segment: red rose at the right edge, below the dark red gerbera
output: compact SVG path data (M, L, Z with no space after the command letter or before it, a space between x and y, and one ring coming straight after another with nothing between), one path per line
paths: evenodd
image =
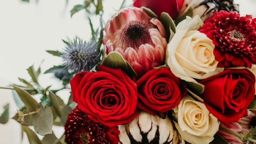
M255 76L246 69L226 69L200 81L205 85L200 95L208 110L227 124L238 122L246 112L255 94Z

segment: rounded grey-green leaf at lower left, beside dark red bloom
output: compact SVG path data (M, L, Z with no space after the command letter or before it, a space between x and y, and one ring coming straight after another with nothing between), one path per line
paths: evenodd
M46 135L52 133L53 114L50 107L40 107L39 112L35 114L33 120L34 130L39 135Z

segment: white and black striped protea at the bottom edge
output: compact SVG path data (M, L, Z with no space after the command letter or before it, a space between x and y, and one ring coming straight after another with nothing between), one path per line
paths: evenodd
M130 123L119 126L120 144L185 144L169 117L140 112Z

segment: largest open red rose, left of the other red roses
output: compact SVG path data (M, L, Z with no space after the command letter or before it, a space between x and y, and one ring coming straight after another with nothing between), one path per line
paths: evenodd
M98 72L78 72L70 84L73 101L95 122L117 126L138 115L136 83L120 69L101 65Z

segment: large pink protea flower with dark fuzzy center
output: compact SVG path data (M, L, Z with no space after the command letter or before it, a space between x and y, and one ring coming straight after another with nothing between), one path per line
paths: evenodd
M165 29L142 9L120 10L107 22L105 32L106 54L119 52L138 76L160 66L165 59Z

